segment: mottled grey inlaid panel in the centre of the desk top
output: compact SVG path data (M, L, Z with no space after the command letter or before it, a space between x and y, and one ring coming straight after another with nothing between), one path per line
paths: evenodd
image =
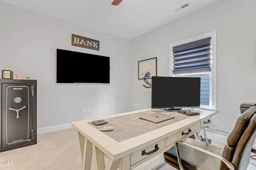
M201 111L201 113L203 113L203 112L204 111ZM166 120L166 121L163 121L160 123L152 123L150 121L146 121L146 120L139 118L142 115L149 115L152 113L162 113L162 114L166 114L166 115L171 115L171 116L174 116L174 119ZM108 121L108 124L105 124L105 125L96 126L96 125L92 124L91 122L88 122L88 124L98 130L100 130L100 128L102 128L104 126L114 127L113 131L106 131L106 132L102 131L102 133L108 135L115 141L121 142L121 141L125 141L127 139L131 139L133 137L136 137L138 135L142 135L144 133L154 131L154 130L164 127L166 125L176 123L176 122L186 119L188 117L190 117L190 116L183 115L181 113L177 113L176 111L166 111L163 109L152 109L149 111L142 111L139 113L133 113L133 114L129 114L129 115L122 115L122 116L118 116L118 117L104 119L105 121Z

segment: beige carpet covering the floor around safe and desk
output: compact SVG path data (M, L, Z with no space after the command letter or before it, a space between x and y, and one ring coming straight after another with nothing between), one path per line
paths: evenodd
M214 141L212 143L224 146L222 143ZM38 135L36 145L1 152L0 160L13 161L13 164L0 162L0 170L80 170L81 158L77 132L72 128ZM94 160L92 160L92 170L94 169ZM251 159L247 170L255 169L256 160ZM176 169L164 164L157 170Z

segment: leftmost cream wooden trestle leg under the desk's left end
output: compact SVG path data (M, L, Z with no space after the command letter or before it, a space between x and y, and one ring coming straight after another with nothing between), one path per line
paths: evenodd
M92 164L92 143L87 140L81 133L78 132L81 157L82 157L82 170L91 170Z

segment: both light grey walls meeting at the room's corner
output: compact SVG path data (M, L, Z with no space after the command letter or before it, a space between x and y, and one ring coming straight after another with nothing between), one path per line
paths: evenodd
M255 6L254 0L221 0L128 41L0 2L0 70L38 80L38 128L70 123L151 107L138 61L158 57L158 76L169 76L170 43L216 30L220 114L213 125L230 131L239 104L256 102ZM71 46L72 33L99 40L100 51ZM56 48L110 56L110 85L54 85ZM91 112L82 113L83 107Z

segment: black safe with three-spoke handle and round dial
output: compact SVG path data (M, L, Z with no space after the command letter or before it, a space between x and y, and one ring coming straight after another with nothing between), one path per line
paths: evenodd
M36 87L37 80L0 80L0 152L36 144Z

